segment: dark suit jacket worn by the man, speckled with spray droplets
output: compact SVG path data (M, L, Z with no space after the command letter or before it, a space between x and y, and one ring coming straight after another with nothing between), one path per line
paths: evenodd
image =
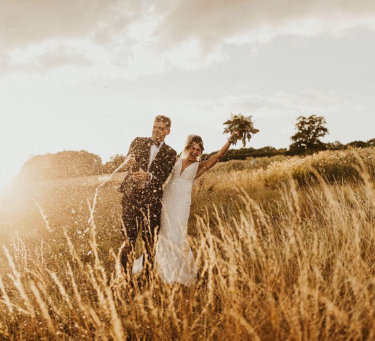
M129 154L133 154L137 161L136 170L142 168L147 170L148 159L151 149L151 138L136 137L130 144ZM166 182L176 161L176 151L163 143L156 154L149 172L152 180L146 183L145 189L137 189L132 181L132 171L127 173L119 191L124 194L128 203L154 204L160 202L163 197L162 185Z

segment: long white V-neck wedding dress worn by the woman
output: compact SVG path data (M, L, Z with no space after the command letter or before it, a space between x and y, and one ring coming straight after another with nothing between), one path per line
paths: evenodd
M167 283L192 284L197 278L197 265L187 243L187 220L190 213L191 188L199 162L189 165L181 174L182 158L173 167L163 191L163 208L155 267ZM142 270L143 256L133 264L133 273Z

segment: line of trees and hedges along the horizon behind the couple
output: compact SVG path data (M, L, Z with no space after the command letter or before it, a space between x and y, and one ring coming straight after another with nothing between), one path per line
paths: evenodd
M297 118L296 133L291 136L292 144L289 149L276 149L271 146L259 149L251 147L231 149L222 158L222 161L274 155L304 155L323 150L343 150L350 147L375 147L375 138L369 141L353 141L347 144L342 144L339 141L324 143L320 139L328 134L326 125L326 119L322 116L300 116ZM215 153L203 154L202 159L207 160ZM124 160L125 155L116 154L103 164L99 155L87 151L63 151L55 154L36 155L23 164L19 178L21 180L42 181L112 173Z

